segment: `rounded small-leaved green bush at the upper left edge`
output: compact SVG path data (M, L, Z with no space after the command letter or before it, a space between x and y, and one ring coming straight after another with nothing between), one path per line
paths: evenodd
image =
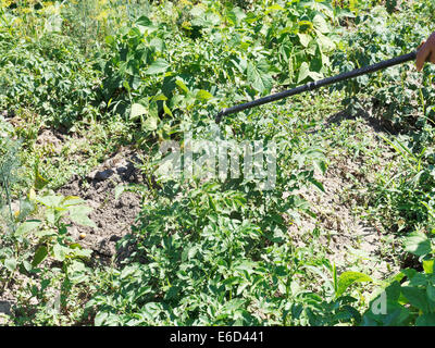
M55 29L41 33L37 40L20 36L16 21L4 15L0 26L0 108L28 109L58 126L95 117L98 103L91 102L98 74L75 41Z

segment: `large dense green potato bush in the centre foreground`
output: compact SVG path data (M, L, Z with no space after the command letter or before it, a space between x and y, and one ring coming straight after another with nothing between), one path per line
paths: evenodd
M175 198L178 197L178 198ZM172 203L170 203L172 201ZM97 325L332 325L359 319L355 298L303 290L307 256L271 243L248 201L216 184L148 203L135 253L87 303ZM301 258L301 259L299 259ZM302 261L303 260L303 261ZM313 269L325 260L313 258ZM327 264L327 263L325 263ZM360 279L362 281L362 278ZM366 279L365 279L366 281ZM326 299L325 299L326 298Z

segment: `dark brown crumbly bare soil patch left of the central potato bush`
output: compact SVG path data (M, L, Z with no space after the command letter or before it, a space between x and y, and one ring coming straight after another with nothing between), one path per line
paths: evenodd
M125 148L95 169L86 178L74 177L58 190L64 196L78 196L94 208L89 217L97 228L73 224L71 235L85 247L95 251L99 259L107 260L115 253L116 241L130 232L140 211L140 195L124 191L115 199L119 185L141 183L135 163L137 154ZM85 238L80 238L85 234Z

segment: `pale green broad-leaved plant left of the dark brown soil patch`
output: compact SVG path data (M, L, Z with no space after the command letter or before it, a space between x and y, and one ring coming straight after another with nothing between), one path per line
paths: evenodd
M86 262L92 251L75 241L67 227L69 220L95 226L87 216L90 211L77 197L49 192L35 196L30 191L27 199L20 201L13 214L14 227L0 236L0 290L3 293L11 284L20 285L15 294L21 299L15 322L60 325L60 320L79 320L83 309L73 306L71 299L86 294L83 284L91 278ZM57 303L52 296L58 296Z

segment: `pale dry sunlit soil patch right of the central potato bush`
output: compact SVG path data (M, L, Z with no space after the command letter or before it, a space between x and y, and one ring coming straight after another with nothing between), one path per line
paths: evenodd
M334 115L325 124L327 129L332 123L340 123L348 117L346 113ZM366 270L372 277L382 279L398 272L400 266L393 259L386 257L386 235L381 226L369 223L361 217L361 211L357 207L364 204L366 187L374 182L375 173L385 165L395 153L385 146L377 133L386 130L372 117L364 117L360 125L373 139L373 147L383 148L383 159L380 159L377 167L372 167L369 174L361 169L366 160L363 154L352 158L343 153L328 152L331 161L324 175L315 173L315 178L323 184L324 192L315 187L300 190L298 194L310 202L311 210L316 219L304 215L300 222L296 222L289 228L294 243L304 246L303 235L312 234L318 228L320 243L326 246L328 259L336 263L341 271L348 271L353 265Z

